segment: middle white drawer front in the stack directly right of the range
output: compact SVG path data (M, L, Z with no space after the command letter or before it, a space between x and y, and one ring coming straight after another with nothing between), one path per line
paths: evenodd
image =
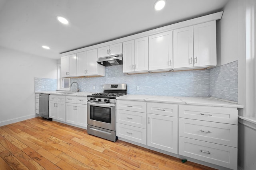
M146 129L146 113L116 109L116 122Z

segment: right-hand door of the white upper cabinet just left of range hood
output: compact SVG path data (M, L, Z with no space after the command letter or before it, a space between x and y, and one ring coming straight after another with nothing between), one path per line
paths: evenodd
M88 66L88 75L98 74L98 50L93 49L87 51L87 66Z

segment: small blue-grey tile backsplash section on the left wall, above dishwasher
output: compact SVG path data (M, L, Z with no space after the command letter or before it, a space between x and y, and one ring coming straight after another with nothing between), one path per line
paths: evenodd
M57 79L35 77L35 91L52 91L57 89Z

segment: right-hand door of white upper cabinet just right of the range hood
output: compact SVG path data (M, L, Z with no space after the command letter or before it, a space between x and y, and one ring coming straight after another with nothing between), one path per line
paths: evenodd
M148 70L148 37L135 39L134 70Z

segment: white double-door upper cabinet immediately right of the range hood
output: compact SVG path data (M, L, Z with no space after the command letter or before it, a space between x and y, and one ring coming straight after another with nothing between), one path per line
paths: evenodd
M123 43L123 72L148 71L148 37Z

